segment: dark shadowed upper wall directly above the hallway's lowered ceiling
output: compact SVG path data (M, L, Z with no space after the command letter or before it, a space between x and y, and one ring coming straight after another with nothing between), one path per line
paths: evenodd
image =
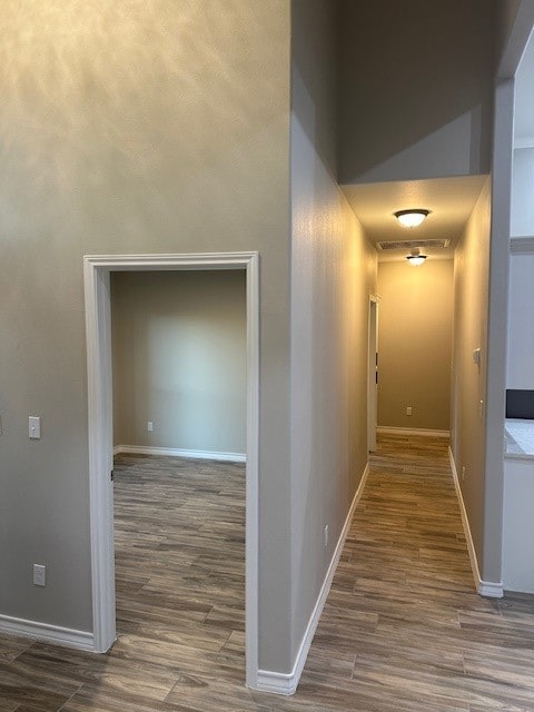
M342 0L340 28L339 182L490 171L493 3Z

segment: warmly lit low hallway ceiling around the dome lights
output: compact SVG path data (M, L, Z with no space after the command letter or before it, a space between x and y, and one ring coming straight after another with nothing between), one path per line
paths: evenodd
M346 185L342 188L372 243L449 239L448 248L424 251L428 257L451 259L485 179L486 176L462 176ZM431 214L419 227L405 228L397 222L393 214L407 208L425 208L431 210ZM378 250L378 260L388 261L405 255L406 249Z

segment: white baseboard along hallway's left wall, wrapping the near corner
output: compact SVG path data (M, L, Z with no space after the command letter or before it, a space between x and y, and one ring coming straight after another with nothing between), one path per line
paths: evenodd
M339 538L337 541L336 548L334 550L328 571L326 572L325 580L319 591L319 595L317 596L316 604L314 606L314 610L312 611L312 615L309 616L309 621L306 626L306 631L304 633L295 665L293 666L293 671L290 673L281 673L270 670L258 670L256 683L257 690L260 690L263 692L274 692L275 694L284 695L290 695L296 692L300 675L303 674L304 665L306 663L306 657L308 656L312 641L314 640L315 631L317 630L323 609L325 607L325 603L330 591L337 564L339 563L339 558L342 556L345 540L347 538L348 532L350 531L354 512L362 497L362 493L364 491L365 483L367 482L368 474L369 465L367 464L364 469L364 474L362 475L358 488L356 490L356 494L354 495L350 508L348 510L348 514L345 518L345 524L343 525L343 530L339 534Z

